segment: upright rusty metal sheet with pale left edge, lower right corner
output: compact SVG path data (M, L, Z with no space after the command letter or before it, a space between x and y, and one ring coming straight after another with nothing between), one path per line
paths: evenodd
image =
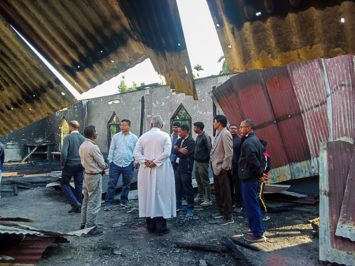
M344 141L320 147L319 259L355 265L355 242L335 235L354 144Z

